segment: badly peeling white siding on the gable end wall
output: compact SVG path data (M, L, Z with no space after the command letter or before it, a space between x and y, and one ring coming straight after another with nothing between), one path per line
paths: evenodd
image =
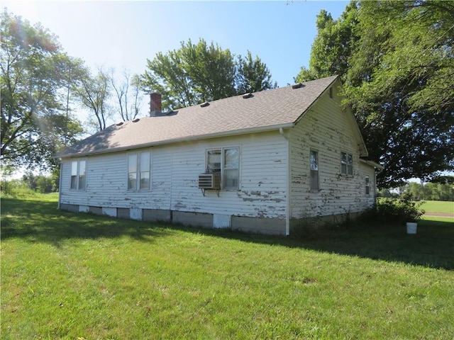
M324 94L290 132L291 217L360 212L375 198L373 168L360 167L360 148L342 111L336 89ZM309 190L309 150L319 152L319 191ZM353 154L353 176L341 175L341 152ZM365 197L365 171L372 171L371 194ZM372 198L373 196L373 198ZM373 204L373 203L372 203Z

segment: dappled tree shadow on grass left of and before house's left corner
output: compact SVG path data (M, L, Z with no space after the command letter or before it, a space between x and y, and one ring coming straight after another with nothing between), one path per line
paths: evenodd
M165 228L134 220L57 209L56 202L1 199L1 239L20 237L29 242L59 246L65 239L98 239L128 236L144 242L167 234Z

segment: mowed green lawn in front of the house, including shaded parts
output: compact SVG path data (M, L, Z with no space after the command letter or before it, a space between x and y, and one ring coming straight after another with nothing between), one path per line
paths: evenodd
M304 241L1 202L2 339L453 339L454 227Z

